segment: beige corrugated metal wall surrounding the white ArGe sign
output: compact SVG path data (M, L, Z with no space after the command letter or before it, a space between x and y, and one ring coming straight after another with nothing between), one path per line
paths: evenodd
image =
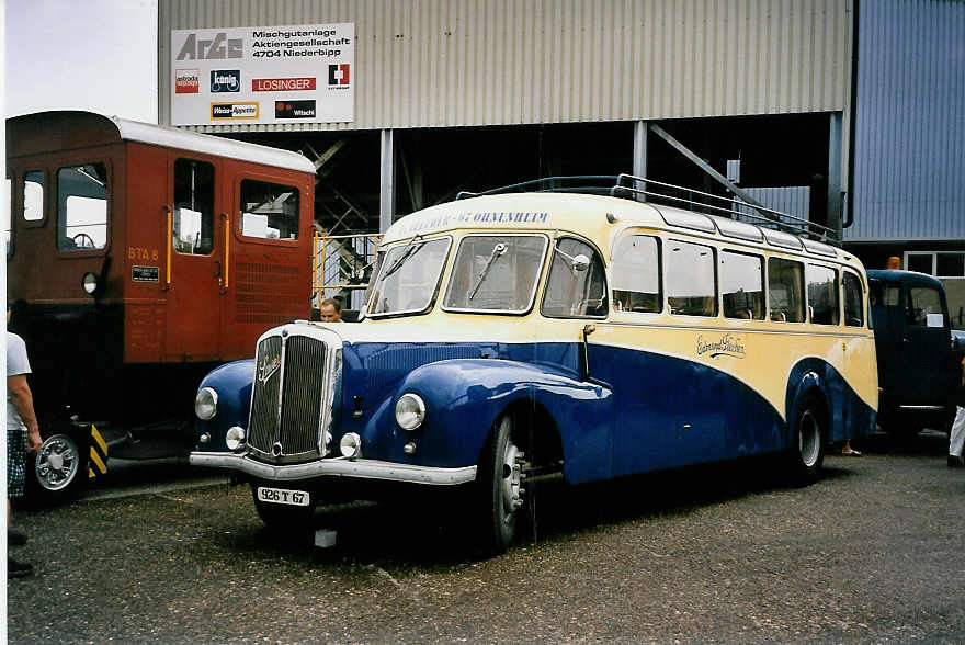
M832 112L850 86L850 0L160 0L171 30L355 23L368 129Z

